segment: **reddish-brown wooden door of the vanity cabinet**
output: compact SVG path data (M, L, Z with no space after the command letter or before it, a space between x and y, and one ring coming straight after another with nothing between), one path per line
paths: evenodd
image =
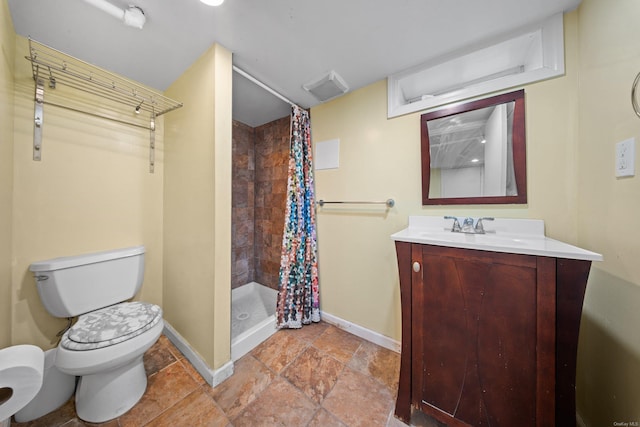
M540 350L554 334L539 331L548 319L538 259L412 245L422 267L411 302L412 395L421 410L449 425L544 425L540 358L553 359L553 344L548 355Z

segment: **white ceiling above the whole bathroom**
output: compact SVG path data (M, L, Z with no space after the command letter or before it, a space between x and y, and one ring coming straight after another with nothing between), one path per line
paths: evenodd
M495 39L580 0L109 0L133 4L142 30L82 0L8 0L15 30L164 91L213 43L233 63L302 107L302 85L335 70L355 90L390 74ZM27 55L27 52L25 52ZM233 116L257 126L289 106L234 73Z

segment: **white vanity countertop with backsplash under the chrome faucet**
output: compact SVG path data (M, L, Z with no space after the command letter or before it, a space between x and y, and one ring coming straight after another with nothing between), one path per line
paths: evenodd
M458 218L460 225L464 217ZM474 224L477 218L474 218ZM602 261L602 255L550 239L544 235L544 221L496 218L483 221L486 234L453 233L453 220L442 216L410 216L409 227L391 235L400 242L454 248L477 249L554 258Z

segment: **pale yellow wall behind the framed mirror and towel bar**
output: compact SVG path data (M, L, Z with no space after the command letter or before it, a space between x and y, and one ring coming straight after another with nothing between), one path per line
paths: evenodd
M575 12L565 19L565 34L566 76L526 87L526 206L422 207L420 113L387 119L385 81L312 108L313 141L340 139L340 167L316 172L318 199L396 201L388 212L319 209L324 311L400 340L398 273L389 236L406 227L409 215L541 218L549 236L575 243Z

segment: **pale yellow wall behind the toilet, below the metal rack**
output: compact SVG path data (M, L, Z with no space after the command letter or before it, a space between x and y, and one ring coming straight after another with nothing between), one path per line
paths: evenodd
M148 172L149 131L44 107L42 161L32 160L33 78L16 36L13 155L12 342L55 345L64 320L42 306L28 272L33 261L143 244L145 280L137 298L162 302L162 120L156 173ZM73 104L78 91L45 90L45 100ZM84 95L83 95L84 96ZM106 112L95 101L89 111ZM133 120L135 115L122 113ZM123 118L125 118L123 117Z

